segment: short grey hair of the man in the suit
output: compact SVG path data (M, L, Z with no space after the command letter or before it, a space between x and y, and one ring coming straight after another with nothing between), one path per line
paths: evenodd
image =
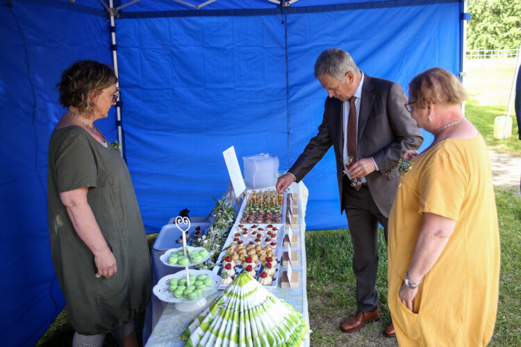
M320 53L315 62L315 78L320 78L322 75L329 75L343 82L345 74L352 72L358 74L360 69L356 66L351 55L338 48L329 48Z

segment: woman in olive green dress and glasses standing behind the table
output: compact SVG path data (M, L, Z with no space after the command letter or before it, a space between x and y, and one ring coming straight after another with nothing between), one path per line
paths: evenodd
M133 319L151 293L129 170L93 124L115 104L116 83L111 67L92 60L75 62L58 83L67 111L49 143L49 237L73 346L101 346L107 332L122 346L137 346Z

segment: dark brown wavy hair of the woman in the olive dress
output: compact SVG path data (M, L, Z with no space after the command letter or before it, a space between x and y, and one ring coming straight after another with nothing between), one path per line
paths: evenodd
M63 71L62 79L56 87L60 91L60 104L64 107L74 106L79 112L90 114L90 94L115 83L117 77L112 67L94 60L81 60Z

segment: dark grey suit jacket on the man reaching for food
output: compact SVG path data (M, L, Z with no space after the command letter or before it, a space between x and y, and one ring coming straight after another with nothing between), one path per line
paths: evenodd
M358 159L372 157L377 163L378 171L368 174L365 179L374 202L386 217L389 216L399 183L398 161L404 151L418 149L423 142L420 128L404 107L406 102L407 97L400 85L365 74L358 115L356 153ZM309 141L304 152L289 169L299 182L333 145L340 213L344 210L342 113L342 101L328 97L318 134Z

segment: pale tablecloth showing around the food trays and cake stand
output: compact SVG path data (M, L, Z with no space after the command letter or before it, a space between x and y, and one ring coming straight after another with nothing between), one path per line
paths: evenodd
M301 314L303 314L304 319L309 324L309 315L308 315L308 299L307 299L307 291L306 291L306 247L304 243L304 235L306 230L306 223L304 221L306 214L306 204L308 201L308 189L303 183L293 183L290 185L292 192L298 192L298 204L299 204L299 213L297 218L298 228L292 230L292 233L299 235L299 246L297 248L292 248L292 251L297 251L299 266L292 266L293 271L299 272L299 287L297 289L282 289L280 286L282 271L286 268L282 268L279 272L279 285L272 289L272 293L281 298L291 305L295 307L295 309ZM283 248L283 251L287 250L287 248ZM160 263L159 252L153 253L153 261L154 261L154 284L157 280L166 275L163 274L165 270L160 269L157 266L157 263ZM156 258L156 259L154 259ZM282 261L282 256L280 257ZM217 291L217 293L206 298L207 305L210 305L212 301L217 297L217 295L221 294L222 291ZM203 309L201 309L203 310ZM179 335L181 332L185 330L186 325L192 319L195 318L201 312L201 310L195 312L180 312L174 308L173 304L167 304L159 301L154 294L152 294L151 305L149 305L149 309L147 309L147 319L152 321L151 326L154 327L148 341L146 342L146 347L173 347L173 346L183 346L185 341L179 339ZM144 339L146 339L147 327L145 327L143 331ZM309 335L304 340L305 346L309 346Z

